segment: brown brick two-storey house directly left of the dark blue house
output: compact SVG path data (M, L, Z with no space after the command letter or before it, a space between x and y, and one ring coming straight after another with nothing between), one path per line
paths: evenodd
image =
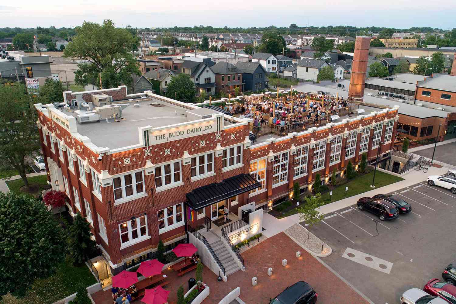
M228 62L218 62L212 66L218 93L233 93L235 88L244 91L243 72Z

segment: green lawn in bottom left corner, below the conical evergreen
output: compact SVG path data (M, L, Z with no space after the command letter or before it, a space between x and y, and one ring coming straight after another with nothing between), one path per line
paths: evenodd
M71 260L67 259L58 265L51 277L38 279L32 283L26 296L19 300L22 304L54 303L77 292L76 283L79 282L88 287L97 283L97 280L85 264L73 266Z

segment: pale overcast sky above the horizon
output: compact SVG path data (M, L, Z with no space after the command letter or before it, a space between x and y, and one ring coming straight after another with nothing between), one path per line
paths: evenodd
M445 8L445 9L442 9ZM0 3L0 27L74 27L111 19L117 26L456 26L454 0L145 1L22 0Z

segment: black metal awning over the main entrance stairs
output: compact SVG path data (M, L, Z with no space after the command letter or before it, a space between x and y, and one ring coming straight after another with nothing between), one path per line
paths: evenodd
M218 184L213 183L194 189L187 193L187 204L197 210L259 187L261 184L252 175L240 174Z

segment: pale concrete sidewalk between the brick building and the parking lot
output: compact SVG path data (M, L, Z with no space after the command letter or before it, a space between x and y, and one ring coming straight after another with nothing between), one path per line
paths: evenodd
M440 164L443 164L443 163L440 163ZM402 189L404 187L408 187L410 185L419 183L423 180L426 180L426 177L428 177L429 175L446 174L449 167L447 164L445 164L445 165L443 165L442 168L430 167L426 173L424 173L423 171L409 170L409 172L407 172L406 174L404 174L402 176L402 178L404 178L404 180L402 180L402 181L399 181L399 182L391 184L391 185L386 185L384 187L374 188L371 191L363 192L363 193L355 195L355 196L350 196L350 197L347 197L340 201L334 201L332 203L321 206L319 208L319 210L324 214L328 214L328 213L331 213L331 212L334 212L339 209L346 208L348 206L355 204L358 201L358 199L361 197L364 197L364 196L372 197L376 194L383 194L386 192L396 191L396 190ZM451 167L453 167L453 166L451 166ZM263 228L265 230L264 230L263 234L267 237L272 237L275 234L283 232L286 229L290 228L291 226L293 226L294 224L299 223L299 222L301 222L299 220L299 214L294 214L292 216L287 216L287 217L278 219L278 218L270 215L269 213L264 213L263 214Z

